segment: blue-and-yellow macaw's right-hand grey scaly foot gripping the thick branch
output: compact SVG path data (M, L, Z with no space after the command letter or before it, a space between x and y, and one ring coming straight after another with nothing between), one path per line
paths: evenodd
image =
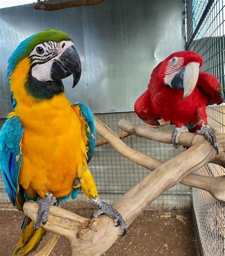
M117 210L115 210L111 205L106 204L103 201L100 201L99 199L93 199L91 200L91 203L95 206L99 208L99 211L94 212L94 214L92 215L92 218L97 218L100 215L106 214L109 217L111 217L114 222L116 223L115 226L121 226L123 233L122 235L119 236L125 236L127 233L127 226L125 221L123 220L122 216L118 213Z

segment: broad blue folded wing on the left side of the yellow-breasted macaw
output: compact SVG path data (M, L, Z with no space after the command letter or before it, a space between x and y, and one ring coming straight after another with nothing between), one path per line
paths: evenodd
M8 118L0 131L0 168L7 194L14 206L18 203L18 179L22 160L23 127L17 116Z

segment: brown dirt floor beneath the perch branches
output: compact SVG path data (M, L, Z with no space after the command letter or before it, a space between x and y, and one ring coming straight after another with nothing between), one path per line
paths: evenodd
M84 217L89 214L78 213ZM17 211L0 211L0 255L10 256L20 235L23 214ZM60 238L51 256L70 256L68 241ZM104 256L173 255L197 256L190 214L143 213L129 227L127 235L119 237Z

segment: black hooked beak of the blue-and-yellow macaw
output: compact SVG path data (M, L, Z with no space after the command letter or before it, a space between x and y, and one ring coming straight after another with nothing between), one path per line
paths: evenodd
M81 77L81 61L73 45L67 48L59 59L53 61L50 70L50 78L52 80L61 80L70 75L73 75L74 78L74 88Z

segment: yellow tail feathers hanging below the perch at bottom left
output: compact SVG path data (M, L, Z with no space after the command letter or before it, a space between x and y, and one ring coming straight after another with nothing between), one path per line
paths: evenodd
M46 230L42 227L34 230L34 222L26 216L25 226L22 230L13 256L15 256L18 252L20 256L26 256L35 251L45 234Z

